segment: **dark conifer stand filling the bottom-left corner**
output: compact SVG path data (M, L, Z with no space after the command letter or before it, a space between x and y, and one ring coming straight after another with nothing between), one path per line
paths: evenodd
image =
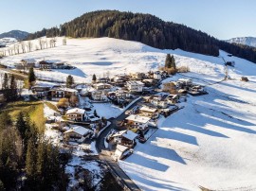
M27 113L0 114L0 190L65 190L59 149L46 140Z

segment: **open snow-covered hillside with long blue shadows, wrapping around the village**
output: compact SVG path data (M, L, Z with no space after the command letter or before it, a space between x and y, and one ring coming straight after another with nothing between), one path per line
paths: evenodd
M224 78L222 58L193 54L182 50L159 50L142 43L116 39L59 39L55 48L39 50L1 60L6 65L25 58L42 61L66 61L75 70L36 71L41 78L90 81L109 71L118 73L156 70L166 53L174 54L177 66L189 66L191 72L174 78L192 78L206 85L207 96L189 97L184 109L158 121L159 129L145 144L137 144L135 153L119 162L123 170L143 190L256 189L256 64L235 61L229 68L231 80ZM36 42L35 42L36 43ZM246 76L249 81L240 81Z

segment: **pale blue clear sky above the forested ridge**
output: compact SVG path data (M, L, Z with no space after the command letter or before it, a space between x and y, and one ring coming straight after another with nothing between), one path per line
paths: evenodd
M0 33L59 26L85 12L119 9L151 13L218 39L256 37L256 0L0 0Z

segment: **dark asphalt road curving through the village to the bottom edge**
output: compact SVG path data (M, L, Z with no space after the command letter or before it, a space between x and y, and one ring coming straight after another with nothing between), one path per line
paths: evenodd
M124 120L128 115L125 114L125 111L127 110L131 110L133 107L135 107L137 105L137 103L139 101L141 101L142 98L139 98L136 102L134 102L129 108L127 108L126 110L124 110L117 118L115 119L111 119L109 120L111 122L111 125L108 126L105 130L103 130L101 132L101 134L99 135L99 137L96 140L96 148L100 154L100 159L102 161L105 161L107 165L109 165L109 167L115 172L115 174L119 177L119 180L126 185L126 187L128 187L130 190L140 190L137 187L137 184L135 182L133 182L126 174L125 172L119 167L119 165L110 157L110 156L106 156L101 154L101 150L105 149L104 146L104 138L106 137L106 135L108 134L108 132L110 130L113 130L114 128L116 128L116 123L117 121L122 121Z

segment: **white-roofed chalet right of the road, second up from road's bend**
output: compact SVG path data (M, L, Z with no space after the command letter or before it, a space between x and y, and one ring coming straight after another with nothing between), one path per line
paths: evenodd
M151 118L147 116L131 114L125 120L126 124L130 128L136 128L138 130L147 130L150 119Z

